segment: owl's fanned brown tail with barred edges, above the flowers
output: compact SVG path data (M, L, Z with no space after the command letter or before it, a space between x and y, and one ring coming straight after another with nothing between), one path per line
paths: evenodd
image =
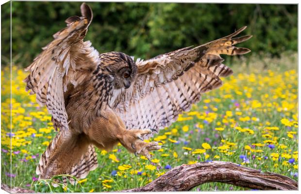
M97 166L95 148L84 135L73 134L70 130L60 130L42 154L36 174L39 175L39 179L66 174L85 178ZM67 178L63 178L64 183L67 183ZM68 179L74 183L73 178Z

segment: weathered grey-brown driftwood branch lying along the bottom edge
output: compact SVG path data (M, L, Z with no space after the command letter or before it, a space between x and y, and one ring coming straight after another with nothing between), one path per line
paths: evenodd
M283 175L262 173L233 162L214 161L177 166L143 187L122 192L189 191L207 182L223 182L258 190L298 190L298 183ZM6 185L1 184L1 189L10 192ZM12 193L34 192L15 187Z

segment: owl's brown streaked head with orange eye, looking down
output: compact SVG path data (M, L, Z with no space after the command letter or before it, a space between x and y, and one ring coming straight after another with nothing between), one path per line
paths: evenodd
M100 54L100 65L112 76L115 89L129 88L137 74L134 60L122 52Z

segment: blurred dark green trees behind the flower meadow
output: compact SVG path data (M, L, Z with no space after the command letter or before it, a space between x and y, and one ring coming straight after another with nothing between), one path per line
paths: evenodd
M28 66L64 28L68 16L80 15L81 2L12 2L12 58ZM297 51L298 6L292 4L204 4L88 2L94 14L85 40L99 52L122 51L151 58L218 39L243 26L258 56ZM10 56L10 4L1 6L3 60Z

